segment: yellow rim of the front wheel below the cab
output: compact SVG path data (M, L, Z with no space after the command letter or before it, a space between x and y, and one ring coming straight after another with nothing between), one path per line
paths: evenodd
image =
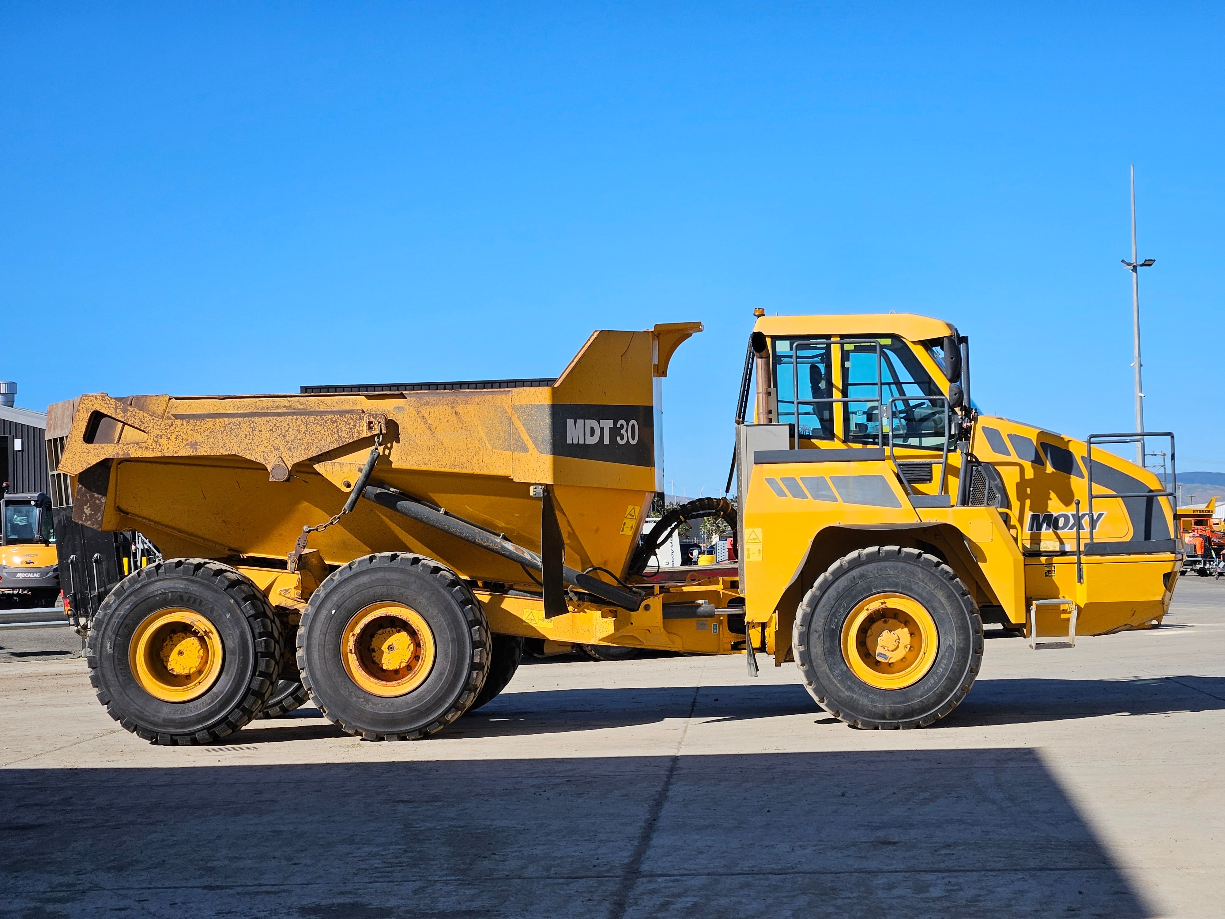
M861 600L843 622L846 665L876 689L905 689L919 683L936 660L936 620L918 600L877 593Z

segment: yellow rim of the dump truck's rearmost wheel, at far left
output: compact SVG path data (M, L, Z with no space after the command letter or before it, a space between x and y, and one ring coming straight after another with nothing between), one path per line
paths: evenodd
M222 638L206 616L162 609L146 616L127 646L136 683L163 702L200 698L222 671Z

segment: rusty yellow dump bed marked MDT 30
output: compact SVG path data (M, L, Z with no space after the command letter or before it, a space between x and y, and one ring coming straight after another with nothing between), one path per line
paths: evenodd
M344 505L377 440L372 483L528 548L540 545L529 486L549 485L566 564L620 576L662 484L657 381L699 328L595 332L554 381L83 396L59 469L76 478L82 523L138 529L167 556L276 560ZM511 560L369 501L311 548L328 565L408 550L468 580L532 582Z

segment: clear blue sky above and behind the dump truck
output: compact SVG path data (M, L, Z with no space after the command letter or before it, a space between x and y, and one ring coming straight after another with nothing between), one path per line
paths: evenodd
M81 392L557 374L698 319L666 477L719 493L752 309L914 311L985 409L1225 471L1225 7L0 9L0 379ZM671 490L671 488L669 489Z

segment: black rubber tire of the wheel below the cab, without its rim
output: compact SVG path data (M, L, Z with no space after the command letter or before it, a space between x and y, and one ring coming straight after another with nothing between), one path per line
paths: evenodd
M882 592L921 603L940 637L931 669L904 689L869 686L842 652L846 616ZM921 728L952 712L974 685L982 664L982 620L948 565L918 549L883 545L854 551L817 578L796 610L791 643L809 694L829 714L859 728Z

